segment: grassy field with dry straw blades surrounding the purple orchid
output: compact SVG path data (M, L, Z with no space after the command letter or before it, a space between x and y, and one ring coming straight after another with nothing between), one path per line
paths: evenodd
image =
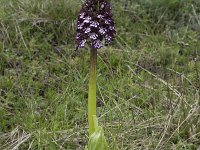
M200 150L200 2L111 0L97 113L112 150ZM0 149L87 144L89 50L81 0L0 0Z

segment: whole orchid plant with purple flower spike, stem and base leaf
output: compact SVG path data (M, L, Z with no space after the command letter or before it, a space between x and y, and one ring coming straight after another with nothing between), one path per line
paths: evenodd
M109 45L116 34L111 5L107 0L86 0L77 19L76 48L90 47L90 77L88 93L89 143L86 149L109 149L102 127L96 117L97 50Z

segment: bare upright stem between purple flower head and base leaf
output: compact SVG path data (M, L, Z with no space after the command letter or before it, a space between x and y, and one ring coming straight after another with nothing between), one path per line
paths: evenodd
M97 49L91 49L90 52L90 79L88 94L88 122L89 136L95 131L93 116L96 116L96 62Z

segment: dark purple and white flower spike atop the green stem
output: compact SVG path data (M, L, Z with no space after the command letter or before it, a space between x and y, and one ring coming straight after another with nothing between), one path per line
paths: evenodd
M108 0L86 0L77 20L77 47L82 48L88 43L91 48L100 49L110 44L115 34Z

